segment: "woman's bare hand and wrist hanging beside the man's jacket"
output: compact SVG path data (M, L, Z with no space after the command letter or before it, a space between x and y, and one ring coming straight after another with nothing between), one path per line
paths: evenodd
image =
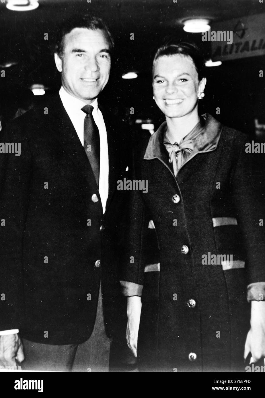
M132 350L132 353L135 357L137 357L137 339L138 339L138 330L140 324L140 316L141 316L141 297L132 296L127 299L127 330L126 330L126 340L129 348Z

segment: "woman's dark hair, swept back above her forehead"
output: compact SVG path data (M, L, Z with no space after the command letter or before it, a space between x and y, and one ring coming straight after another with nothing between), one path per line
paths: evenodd
M175 37L166 38L164 43L159 46L153 59L153 66L159 57L179 54L192 59L199 80L206 76L205 60L199 47L194 43L176 40Z

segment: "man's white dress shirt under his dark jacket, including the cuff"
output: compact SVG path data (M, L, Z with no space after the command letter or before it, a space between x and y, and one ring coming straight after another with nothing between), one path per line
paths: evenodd
M75 127L75 131L77 132L78 138L84 146L84 118L86 114L81 111L81 108L86 105L85 102L79 100L68 94L63 87L60 88L59 95L65 110L67 111L68 116ZM100 199L102 203L103 213L106 210L106 202L108 199L108 140L107 140L107 132L106 126L104 123L104 119L102 113L98 109L98 99L94 100L90 103L93 107L92 116L94 121L98 127L99 137L100 137L100 172L99 172L99 187L98 191L100 194ZM12 330L3 330L0 331L0 336L6 334L15 334L18 333L18 329Z

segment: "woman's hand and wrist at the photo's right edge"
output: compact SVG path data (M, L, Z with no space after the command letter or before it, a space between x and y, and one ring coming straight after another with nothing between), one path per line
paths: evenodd
M245 343L244 358L251 352L252 362L265 357L265 301L251 301L250 330Z

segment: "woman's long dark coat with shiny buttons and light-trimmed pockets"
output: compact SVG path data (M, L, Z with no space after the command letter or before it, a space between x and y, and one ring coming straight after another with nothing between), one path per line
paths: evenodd
M255 154L245 152L249 138L205 117L204 138L219 136L217 147L197 153L177 178L162 143L163 129L135 149L134 178L148 181L148 193L132 193L130 256L121 279L143 285L138 338L143 371L245 371L247 286L249 297L259 299L253 295L264 293L265 285L264 227L259 225L265 209L255 183L261 177L251 168ZM155 267L144 272L150 220L160 272ZM232 255L232 267L202 263L208 253Z

